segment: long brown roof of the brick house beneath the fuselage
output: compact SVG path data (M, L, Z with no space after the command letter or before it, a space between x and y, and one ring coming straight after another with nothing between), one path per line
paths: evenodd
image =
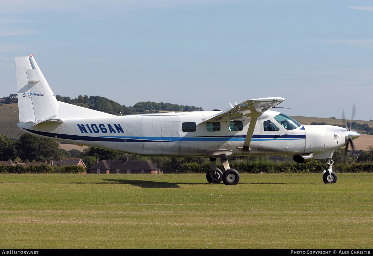
M120 169L120 170L158 170L151 161L144 160L101 160L90 169Z

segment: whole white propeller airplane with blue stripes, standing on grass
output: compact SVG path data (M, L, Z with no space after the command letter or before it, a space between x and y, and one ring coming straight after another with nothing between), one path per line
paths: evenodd
M235 185L228 156L292 156L295 162L328 159L325 183L335 183L331 159L360 134L329 125L301 125L272 107L285 101L247 100L225 111L115 116L59 102L34 57L16 57L19 128L43 138L141 156L210 157L210 183ZM216 168L216 159L225 171ZM321 171L321 170L320 170Z

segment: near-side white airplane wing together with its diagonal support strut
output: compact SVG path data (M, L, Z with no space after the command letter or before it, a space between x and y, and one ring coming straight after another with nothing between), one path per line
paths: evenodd
M261 116L262 113L266 112L267 110L271 109L277 104L280 104L283 101L285 101L285 99L279 97L247 100L245 102L237 104L231 109L225 110L218 113L217 115L203 120L203 123L239 120L242 119L242 116L250 117L251 120L253 120L254 118L255 122L250 122L249 124L244 145L237 147L242 152L248 153L250 152L250 143L251 138L253 138L256 119Z

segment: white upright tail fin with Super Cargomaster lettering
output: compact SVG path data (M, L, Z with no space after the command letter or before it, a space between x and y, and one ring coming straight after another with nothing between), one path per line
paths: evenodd
M19 122L59 118L59 104L34 57L16 57Z

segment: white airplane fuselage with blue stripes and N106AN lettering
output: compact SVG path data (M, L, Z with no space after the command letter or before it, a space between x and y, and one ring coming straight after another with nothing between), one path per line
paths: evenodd
M329 158L328 152L343 147L348 138L345 128L289 124L294 119L286 119L286 124L277 118L283 118L282 114L268 110L256 121L251 151L243 153L237 147L245 141L251 118L242 116L238 120L204 122L216 113L219 112L67 118L62 123L44 122L31 126L32 123L24 122L18 126L32 135L78 145L168 157L209 156L214 150L227 150L233 156L293 156L313 152L314 158Z

